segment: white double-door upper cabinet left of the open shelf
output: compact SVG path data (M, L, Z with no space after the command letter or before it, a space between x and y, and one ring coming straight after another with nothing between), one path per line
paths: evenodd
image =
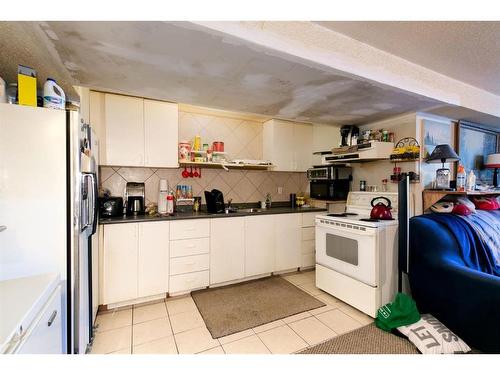
M178 167L178 106L124 95L90 93L90 123L101 165Z

